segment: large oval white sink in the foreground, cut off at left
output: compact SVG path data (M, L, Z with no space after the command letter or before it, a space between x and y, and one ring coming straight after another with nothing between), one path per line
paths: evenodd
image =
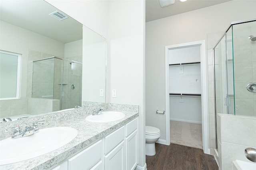
M72 127L39 129L28 137L0 141L0 165L12 164L52 152L72 141L78 134Z

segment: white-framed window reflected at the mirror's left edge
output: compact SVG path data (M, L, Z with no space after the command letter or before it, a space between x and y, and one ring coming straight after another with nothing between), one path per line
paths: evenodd
M0 100L20 97L21 55L0 50Z

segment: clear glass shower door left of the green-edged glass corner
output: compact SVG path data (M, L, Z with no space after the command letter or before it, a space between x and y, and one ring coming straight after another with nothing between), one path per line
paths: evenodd
M216 113L234 115L233 39L229 29L214 48Z

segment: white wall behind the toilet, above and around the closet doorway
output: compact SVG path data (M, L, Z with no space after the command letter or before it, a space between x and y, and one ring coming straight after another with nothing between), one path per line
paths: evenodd
M233 0L146 23L146 125L158 127L160 139L166 139L165 117L155 111L165 108L165 46L206 40L209 33L224 33L232 21L256 18L255 6L256 1ZM213 80L212 58L208 64L208 79ZM208 84L211 154L215 147L213 87L212 81Z

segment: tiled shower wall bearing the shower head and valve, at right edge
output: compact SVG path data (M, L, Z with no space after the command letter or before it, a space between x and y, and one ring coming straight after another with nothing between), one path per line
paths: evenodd
M256 21L233 25L235 114L256 116L256 93L246 85L256 82Z

